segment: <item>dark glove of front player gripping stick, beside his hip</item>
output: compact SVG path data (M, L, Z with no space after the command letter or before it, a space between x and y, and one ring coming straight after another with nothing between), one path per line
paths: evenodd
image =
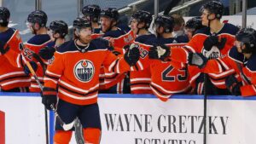
M44 87L42 95L42 103L48 110L52 110L50 105L56 107L57 93L56 89Z

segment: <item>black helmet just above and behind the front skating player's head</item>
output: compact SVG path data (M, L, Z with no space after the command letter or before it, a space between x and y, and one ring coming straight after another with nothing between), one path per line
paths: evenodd
M86 5L82 9L82 14L90 16L90 20L96 22L101 14L101 8L96 4Z

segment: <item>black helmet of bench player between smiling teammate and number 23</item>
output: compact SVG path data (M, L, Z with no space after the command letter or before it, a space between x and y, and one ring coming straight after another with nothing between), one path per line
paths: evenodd
M145 22L145 28L148 28L152 21L152 14L150 14L148 11L138 10L131 15L131 18L136 19L139 23Z

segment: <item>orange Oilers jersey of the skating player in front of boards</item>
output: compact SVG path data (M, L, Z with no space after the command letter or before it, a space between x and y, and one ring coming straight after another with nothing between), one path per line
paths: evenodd
M123 57L118 58L107 49L102 39L92 40L86 49L81 53L74 41L64 43L47 67L44 87L56 89L58 84L58 97L63 101L77 105L96 103L101 66L118 73L131 69Z

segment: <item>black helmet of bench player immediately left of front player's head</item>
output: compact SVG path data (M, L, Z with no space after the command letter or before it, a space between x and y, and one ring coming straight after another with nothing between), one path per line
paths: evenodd
M61 37L65 37L68 32L67 23L63 20L54 20L50 22L49 29L54 33L59 33Z

